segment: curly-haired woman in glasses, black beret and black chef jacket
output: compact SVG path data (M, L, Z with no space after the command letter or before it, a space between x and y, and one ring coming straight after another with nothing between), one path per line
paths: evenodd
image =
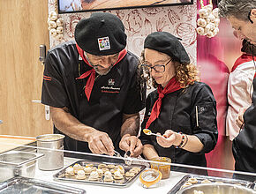
M141 128L162 135L141 133L144 156L206 167L205 153L215 148L218 138L216 101L211 88L196 81L198 71L183 45L167 32L149 34L141 68L157 88L147 96Z

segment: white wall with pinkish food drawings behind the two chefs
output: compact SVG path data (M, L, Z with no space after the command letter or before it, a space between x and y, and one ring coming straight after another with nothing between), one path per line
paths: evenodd
M55 10L56 0L49 0L49 11ZM155 31L167 31L183 39L182 43L196 63L196 4L163 6L153 8L108 11L116 14L124 23L128 35L127 49L140 56L143 41L147 34ZM74 29L80 19L87 18L92 12L60 14L64 19L64 39L56 41L50 37L50 47L60 42L74 40Z

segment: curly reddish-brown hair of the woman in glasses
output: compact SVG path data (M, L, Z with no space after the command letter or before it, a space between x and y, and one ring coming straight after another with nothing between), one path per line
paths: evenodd
M145 61L144 56L144 50L141 52L140 56L140 64L139 64L139 70L143 71L142 74L140 74L141 82L147 82L148 88L151 88L151 85L154 86L154 88L157 88L158 84L154 80L154 78L150 77L149 71L143 67L143 64ZM173 61L174 67L175 67L175 76L177 78L177 81L179 82L180 86L182 88L187 87L189 85L193 85L195 81L199 81L199 71L197 70L196 66L192 63L188 64L182 64L177 61Z

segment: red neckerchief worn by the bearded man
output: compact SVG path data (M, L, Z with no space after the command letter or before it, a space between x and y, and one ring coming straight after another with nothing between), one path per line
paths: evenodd
M77 46L77 49L79 51L79 55L82 57L82 59L84 60L85 63L87 63L90 67L92 67L92 65L90 65L90 63L87 61L87 58L85 56L85 53L84 53L84 50L82 48L79 48L79 45L76 44ZM117 63L120 62L124 56L126 55L127 53L127 50L126 49L123 49L121 52L119 52L119 56L118 56L118 59L117 59ZM115 63L115 64L117 64ZM115 65L114 64L114 65ZM114 66L113 65L113 66ZM95 80L95 71L94 71L94 68L90 71L87 71L85 73L83 73L79 78L87 78L88 76L90 76L88 79L87 79L87 85L85 87L85 93L87 95L87 100L89 101L90 100L90 96L91 96L91 93L92 93L92 90L93 90L93 87L94 87L94 80ZM78 78L77 78L78 79Z

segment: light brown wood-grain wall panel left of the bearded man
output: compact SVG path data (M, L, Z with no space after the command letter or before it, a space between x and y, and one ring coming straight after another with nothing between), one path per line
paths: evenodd
M41 100L40 44L49 48L48 0L0 0L0 134L50 133Z

